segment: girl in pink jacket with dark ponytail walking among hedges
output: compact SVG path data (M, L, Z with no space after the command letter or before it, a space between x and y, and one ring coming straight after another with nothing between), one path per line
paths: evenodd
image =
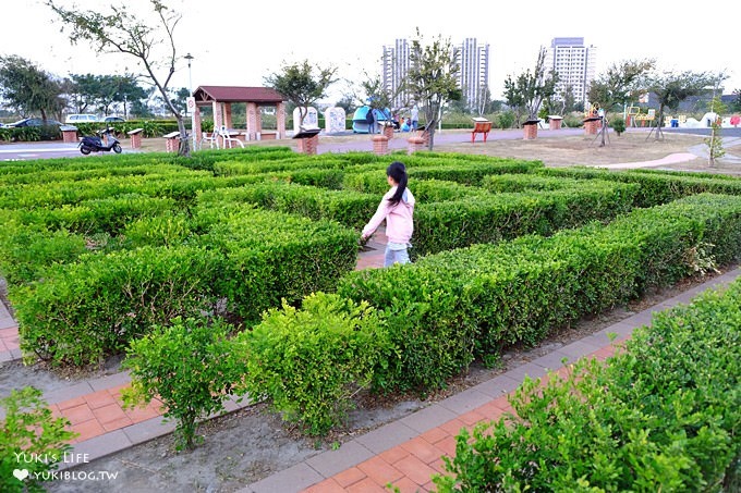
M386 236L389 238L386 245L386 257L384 267L394 263L409 263L409 252L406 248L414 231L412 217L414 214L414 196L406 188L406 168L404 164L394 161L386 169L386 180L390 190L384 195L378 206L378 210L373 214L370 221L363 227L361 238L367 239L386 220Z

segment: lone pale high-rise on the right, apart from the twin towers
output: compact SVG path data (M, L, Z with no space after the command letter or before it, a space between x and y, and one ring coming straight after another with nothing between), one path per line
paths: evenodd
M596 52L594 46L585 46L584 38L554 38L546 50L545 71L558 73L557 94L571 87L574 101L587 103L590 84L595 77Z

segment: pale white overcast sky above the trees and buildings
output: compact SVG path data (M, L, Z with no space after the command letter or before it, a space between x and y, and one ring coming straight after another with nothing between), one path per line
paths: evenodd
M126 4L154 22L148 0L57 1L99 12ZM695 2L692 10L646 0L165 2L182 13L175 39L180 56L194 57L194 88L260 86L281 62L308 59L338 67L341 81L330 91L336 100L345 91L344 81L359 83L364 71L379 73L384 45L411 39L418 27L427 39L442 35L453 44L465 37L488 42L495 98L507 75L532 67L539 47L554 37L583 37L595 46L597 74L616 62L653 58L661 70L725 71L730 75L725 93L741 89L741 32L733 27L741 14L738 0ZM9 1L0 20L0 54L22 56L56 75L141 72L130 57L86 42L71 46L53 12L39 0ZM172 87L187 87L186 61L177 69Z

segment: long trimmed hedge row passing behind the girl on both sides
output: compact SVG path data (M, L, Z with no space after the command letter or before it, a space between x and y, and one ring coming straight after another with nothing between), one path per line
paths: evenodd
M493 195L483 188L453 182L414 182L410 188L422 205L415 211L413 255L416 258L529 233L549 235L591 220L609 220L630 210L636 189L630 184L575 183L581 186L548 194ZM375 211L379 198L353 190L267 183L205 193L199 200L202 204L253 202L267 209L330 219L361 229Z

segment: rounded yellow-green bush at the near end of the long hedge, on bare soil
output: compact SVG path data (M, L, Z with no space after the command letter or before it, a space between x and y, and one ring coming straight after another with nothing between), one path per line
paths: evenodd
M373 369L392 357L367 303L314 293L296 310L283 301L238 336L246 363L244 392L268 397L288 421L325 434L344 421Z

